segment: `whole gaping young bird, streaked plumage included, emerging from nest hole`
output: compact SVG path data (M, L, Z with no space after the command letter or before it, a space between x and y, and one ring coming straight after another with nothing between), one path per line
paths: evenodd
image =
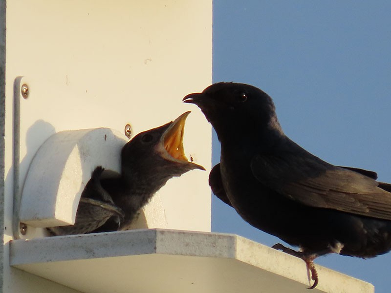
M120 177L92 173L73 226L48 228L53 235L127 230L153 194L175 176L204 167L189 162L183 148L186 112L174 122L137 134L121 151Z

